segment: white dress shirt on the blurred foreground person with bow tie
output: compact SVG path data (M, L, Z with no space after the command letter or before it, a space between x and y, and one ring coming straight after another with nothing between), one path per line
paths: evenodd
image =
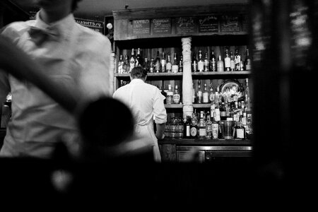
M59 40L36 45L28 30L57 28ZM52 81L80 94L78 101L91 101L113 92L110 71L110 40L76 23L73 14L47 25L37 13L35 20L9 24L1 33L43 67ZM14 61L12 61L14 62ZM80 134L76 119L39 88L0 71L0 101L11 91L12 117L1 156L30 155L47 158L61 136L73 143ZM74 92L75 93L75 92Z

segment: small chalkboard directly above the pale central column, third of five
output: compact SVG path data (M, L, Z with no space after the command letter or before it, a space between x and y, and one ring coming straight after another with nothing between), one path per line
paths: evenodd
M188 34L197 33L198 25L194 17L179 17L175 20L175 33Z

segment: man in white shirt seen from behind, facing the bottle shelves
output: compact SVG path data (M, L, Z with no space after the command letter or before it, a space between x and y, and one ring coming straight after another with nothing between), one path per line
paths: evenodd
M145 83L146 77L146 70L140 66L135 67L131 70L131 82L118 88L113 97L131 109L135 121L134 139L139 141L139 144L153 146L154 160L160 162L158 139L163 139L167 122L167 112L163 104L165 97L157 87Z

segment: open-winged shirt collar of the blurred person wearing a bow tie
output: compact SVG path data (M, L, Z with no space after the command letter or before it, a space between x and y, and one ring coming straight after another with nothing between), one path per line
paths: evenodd
M73 13L69 13L68 16L57 20L53 23L47 24L40 18L40 11L37 12L35 16L35 27L45 29L45 28L57 28L62 37L69 39L71 37L71 30L76 24Z

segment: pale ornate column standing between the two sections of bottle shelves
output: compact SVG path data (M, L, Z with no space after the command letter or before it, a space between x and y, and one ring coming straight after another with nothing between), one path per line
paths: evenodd
M191 37L183 37L182 57L183 57L183 74L182 74L182 101L183 101L183 119L192 116L192 72L191 72Z

